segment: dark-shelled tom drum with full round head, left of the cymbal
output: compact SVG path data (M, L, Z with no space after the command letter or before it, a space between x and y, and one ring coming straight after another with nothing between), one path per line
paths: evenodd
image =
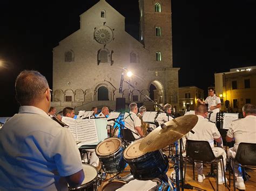
M96 146L96 154L106 173L118 173L124 170L126 167L124 148L124 142L118 137L106 138Z

